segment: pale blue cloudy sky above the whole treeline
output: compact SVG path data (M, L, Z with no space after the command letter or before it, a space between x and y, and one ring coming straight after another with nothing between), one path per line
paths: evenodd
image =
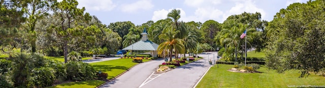
M62 0L58 0L60 2ZM262 14L262 19L271 21L280 9L293 3L308 0L77 0L78 8L98 17L104 24L131 21L141 25L149 20L156 22L167 18L172 9L181 10L181 21L204 23L215 20L222 23L231 15L243 12Z

